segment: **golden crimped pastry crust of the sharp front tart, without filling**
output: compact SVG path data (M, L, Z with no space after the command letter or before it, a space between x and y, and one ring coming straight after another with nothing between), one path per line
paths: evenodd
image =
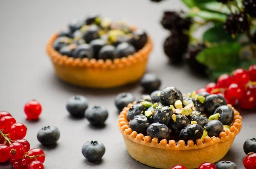
M135 102L134 102L135 104ZM127 150L132 158L148 166L161 169L170 169L177 164L186 166L188 169L198 168L201 163L215 163L223 158L236 135L241 131L242 122L239 112L232 107L235 118L230 129L221 132L219 138L205 137L204 142L201 139L189 140L187 144L180 140L176 144L174 140L159 141L157 138L151 138L143 134L138 134L129 128L129 122L126 113L132 104L125 107L119 115L118 128L122 133Z

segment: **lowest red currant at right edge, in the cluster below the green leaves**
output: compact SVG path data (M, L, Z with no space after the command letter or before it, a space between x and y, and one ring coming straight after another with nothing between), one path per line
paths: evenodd
M247 90L245 95L238 100L238 104L242 109L252 109L256 106L256 97L254 93Z

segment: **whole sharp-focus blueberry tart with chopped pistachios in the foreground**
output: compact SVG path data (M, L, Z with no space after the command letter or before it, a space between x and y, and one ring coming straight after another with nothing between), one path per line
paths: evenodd
M188 169L223 158L242 127L241 116L219 95L183 96L166 87L154 103L150 96L128 104L118 128L132 158L148 166Z

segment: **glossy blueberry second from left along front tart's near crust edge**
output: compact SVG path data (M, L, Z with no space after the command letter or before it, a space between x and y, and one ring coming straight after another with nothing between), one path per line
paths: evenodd
M150 135L151 138L157 137L159 140L162 140L169 137L170 131L165 124L152 123L147 128L147 135Z

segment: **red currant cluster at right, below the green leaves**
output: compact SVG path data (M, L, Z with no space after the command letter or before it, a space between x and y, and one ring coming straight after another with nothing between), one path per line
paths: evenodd
M238 101L242 109L256 107L256 65L251 65L248 70L236 69L230 75L223 74L218 77L217 84L208 83L197 93L208 92L224 96L228 104L236 104Z

